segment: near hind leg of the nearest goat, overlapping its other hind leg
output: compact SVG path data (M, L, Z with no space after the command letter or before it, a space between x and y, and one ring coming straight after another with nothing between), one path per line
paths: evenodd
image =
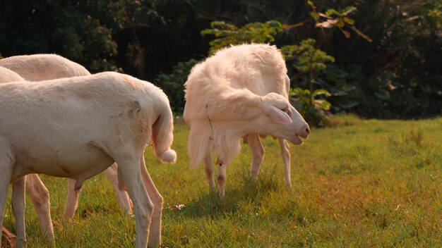
M153 203L141 178L141 156L121 156L114 158L118 171L126 182L127 190L133 202L136 219L135 247L145 248L148 245L149 226L153 213Z

